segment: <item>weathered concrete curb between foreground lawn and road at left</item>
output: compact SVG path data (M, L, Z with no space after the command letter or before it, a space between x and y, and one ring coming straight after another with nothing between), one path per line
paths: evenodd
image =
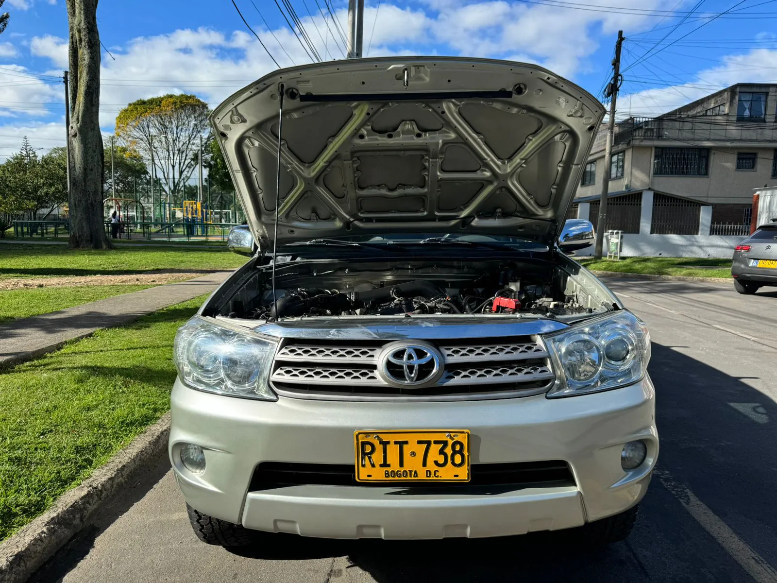
M78 487L65 492L44 515L0 544L0 583L23 583L89 525L141 466L167 449L169 411Z

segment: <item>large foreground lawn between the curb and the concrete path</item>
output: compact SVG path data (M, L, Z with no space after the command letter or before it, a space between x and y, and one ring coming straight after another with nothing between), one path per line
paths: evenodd
M205 297L0 374L0 540L169 409L172 340Z

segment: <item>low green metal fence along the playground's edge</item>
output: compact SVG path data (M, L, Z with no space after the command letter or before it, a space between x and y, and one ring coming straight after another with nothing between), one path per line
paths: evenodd
M186 223L159 221L120 222L115 239L143 241L225 241L238 223ZM14 221L17 239L34 237L64 237L70 232L67 221ZM113 226L105 222L105 232L113 238Z

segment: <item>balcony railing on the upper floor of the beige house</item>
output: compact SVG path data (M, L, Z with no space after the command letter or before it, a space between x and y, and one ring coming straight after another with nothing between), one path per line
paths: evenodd
M615 145L632 140L775 141L777 123L735 122L723 116L630 117L615 126Z

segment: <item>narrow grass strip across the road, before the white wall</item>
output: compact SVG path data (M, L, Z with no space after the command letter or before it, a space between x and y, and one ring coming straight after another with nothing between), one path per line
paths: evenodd
M690 275L698 278L730 278L730 259L695 257L622 257L620 261L580 257L580 264L593 271L627 274Z

